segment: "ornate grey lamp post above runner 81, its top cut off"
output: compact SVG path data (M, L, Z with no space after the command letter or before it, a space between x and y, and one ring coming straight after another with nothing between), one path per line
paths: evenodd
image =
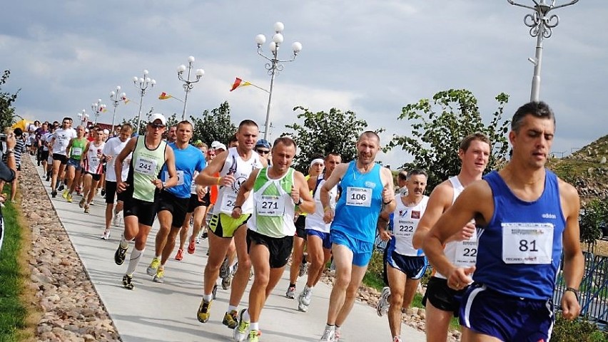
M532 0L534 6L517 4L514 0L507 1L514 6L520 6L534 11L532 14L526 14L524 16L524 24L525 26L530 27L530 36L536 37L536 54L534 58L528 58L528 61L534 64L530 101L538 102L540 95L540 67L542 64L542 39L549 38L553 33L553 28L559 24L559 16L557 16L557 14L549 16L549 11L574 5L579 2L579 0L571 0L567 4L557 6L555 6L555 0Z

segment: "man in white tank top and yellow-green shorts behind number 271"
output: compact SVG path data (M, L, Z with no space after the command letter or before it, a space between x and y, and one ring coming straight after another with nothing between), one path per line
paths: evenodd
M216 285L220 267L234 237L238 269L230 289L228 310L222 323L228 328L235 328L237 325L238 304L245 292L251 268L247 253L245 222L253 213L253 197L243 203L243 207L240 208L241 214L237 219L230 215L240 185L248 179L253 170L266 166L265 160L260 160L258 153L253 151L258 134L258 125L255 122L243 120L238 125L236 133L238 147L231 147L228 151L220 153L196 178L198 185L221 185L217 205L213 207L213 218L209 223L209 229L213 234L209 234L208 237L209 258L205 266L203 300L196 314L201 323L209 320L213 287ZM216 172L220 172L220 177L213 176Z

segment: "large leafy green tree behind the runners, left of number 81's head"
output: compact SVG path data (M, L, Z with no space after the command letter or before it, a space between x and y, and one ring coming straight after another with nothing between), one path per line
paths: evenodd
M445 90L433 96L432 101L423 98L402 108L399 120L407 120L412 131L406 135L394 135L386 147L400 146L414 157L403 167L420 167L429 173L429 191L443 180L460 171L457 151L460 141L467 135L480 132L492 142L488 170L505 162L508 141L508 120L502 120L509 95L496 96L498 109L492 114L489 125L482 122L477 99L466 89Z

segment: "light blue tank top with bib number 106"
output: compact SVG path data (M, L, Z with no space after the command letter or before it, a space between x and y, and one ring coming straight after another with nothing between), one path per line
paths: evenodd
M348 237L373 244L376 222L382 209L381 166L375 164L370 172L362 174L352 161L340 185L342 195L335 205L335 218L331 229Z

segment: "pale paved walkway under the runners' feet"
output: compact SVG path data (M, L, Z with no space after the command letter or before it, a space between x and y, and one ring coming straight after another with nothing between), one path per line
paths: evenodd
M42 176L41 167L37 170ZM49 182L43 179L43 184L50 197ZM133 244L125 264L114 264L113 254L122 229L113 227L108 241L99 239L103 232L105 202L96 197L91 213L84 214L78 207L79 200L80 197L75 196L74 203L68 203L60 192L51 202L123 341L232 341L232 331L221 323L229 297L228 291L223 291L221 286L213 302L210 321L203 324L196 320L207 262L206 240L197 245L195 254L186 254L183 261L170 259L166 265L165 283L157 284L146 274L154 253L156 222L148 238L146 253L133 276L135 289L129 291L123 289L121 279ZM325 327L330 287L326 284L316 286L308 313L302 313L297 309L296 300L285 298L288 283L288 271L285 271L262 311L260 340L318 341ZM303 283L304 279L300 278L298 293ZM247 301L248 292L243 296L243 305ZM378 317L375 309L360 302L355 304L342 331L340 341L391 341L387 318ZM405 325L402 337L404 341L425 341L423 333Z

